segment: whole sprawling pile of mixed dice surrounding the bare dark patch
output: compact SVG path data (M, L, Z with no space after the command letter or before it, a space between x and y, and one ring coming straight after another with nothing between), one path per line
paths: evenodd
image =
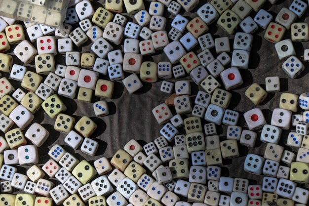
M0 0L0 10L15 12L18 8L19 15L30 12L24 9L23 1L14 2ZM45 3L31 2L37 6ZM136 23L127 22L127 17L121 14L123 2ZM284 61L282 70L290 78L298 77L305 69L295 56L292 42L309 41L308 24L294 23L305 13L307 3L293 0L289 8L280 10L274 23L272 15L262 9L265 2L212 0L201 5L199 0L158 0L151 1L146 10L143 0L107 0L104 7L95 10L88 0L71 0L65 34L25 22L29 41L16 20L0 18L0 71L28 90L27 93L22 88L15 90L6 77L0 79L0 130L4 133L4 137L0 136L0 206L307 205L309 190L304 185L309 183L309 111L306 111L309 93L300 96L282 93L270 124L260 108L245 112L248 129L237 126L239 112L228 109L232 93L227 90L243 83L239 69L249 67L251 34L258 25L266 29L265 39L275 43L278 57ZM174 16L168 32L164 6ZM179 14L182 8L187 12L196 8L197 17L189 21ZM249 16L252 10L257 12L254 18ZM228 34L233 34L238 24L243 31L235 34L232 51L229 38L213 39L210 33L206 34L208 26L217 19L217 24ZM291 40L281 41L289 29ZM91 53L75 49L88 40L92 42ZM122 50L114 49L113 44L121 43ZM34 61L35 71L13 64L12 56L4 53L14 44L14 55L25 64ZM197 44L202 51L195 54ZM219 54L216 58L211 53L213 48ZM163 50L168 62L143 62L143 56L158 50ZM57 64L54 55L58 52L65 55L66 65ZM304 60L309 61L308 49ZM230 63L231 67L225 69ZM124 72L132 74L127 76ZM166 81L173 76L184 77L186 73L203 89L197 92L194 106L190 81ZM107 75L109 80L103 78ZM216 80L219 76L221 81ZM164 79L162 92L173 93L175 87L171 104L176 115L172 115L166 103L152 111L158 124L164 124L160 130L162 136L144 146L131 139L110 161L101 157L93 163L80 161L55 144L48 152L51 159L38 165L38 147L52 138L46 128L32 123L40 108L56 119L56 131L67 134L66 144L95 156L98 142L90 137L97 125L87 116L76 122L64 114L67 107L61 98L77 96L77 100L90 103L93 90L97 97L112 98L114 82L122 81L131 94L143 86L141 81L157 82L158 78ZM225 89L220 88L220 82ZM278 77L268 77L265 82L266 91L257 83L245 91L255 105L261 104L268 92L280 91ZM305 112L297 113L298 107ZM93 109L97 117L109 115L104 100L95 102ZM188 114L190 117L183 119L182 115ZM202 118L207 124L202 125ZM226 140L217 134L216 125L220 124L227 125ZM291 125L296 128L294 132L289 130ZM185 135L178 131L182 127ZM279 145L282 129L290 131L286 145L298 149L297 155ZM239 157L238 141L246 147L255 146L256 130L262 130L260 140L267 144L264 157L248 154L243 170L255 175L263 173L263 182L249 184L248 179L221 175L224 161ZM27 145L27 141L32 144ZM15 165L31 167L22 174ZM58 184L54 185L55 181L49 178L57 179ZM14 192L17 194L13 195Z

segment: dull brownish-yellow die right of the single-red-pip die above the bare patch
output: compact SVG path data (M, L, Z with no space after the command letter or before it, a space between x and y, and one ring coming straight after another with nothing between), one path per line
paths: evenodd
M155 62L143 62L140 71L141 80L144 82L156 82L157 78L157 64Z

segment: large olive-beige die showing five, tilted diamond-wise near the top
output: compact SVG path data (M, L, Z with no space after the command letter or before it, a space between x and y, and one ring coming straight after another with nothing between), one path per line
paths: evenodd
M232 10L228 9L220 16L217 24L228 34L233 34L240 21L240 17Z

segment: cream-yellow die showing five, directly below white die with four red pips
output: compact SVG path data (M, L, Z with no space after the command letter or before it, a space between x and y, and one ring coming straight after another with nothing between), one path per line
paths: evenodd
M35 58L37 74L48 75L55 72L55 59L52 54L39 54Z

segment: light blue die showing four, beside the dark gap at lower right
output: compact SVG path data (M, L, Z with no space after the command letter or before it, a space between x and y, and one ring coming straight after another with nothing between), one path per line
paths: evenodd
M262 174L263 164L265 159L255 154L248 154L243 169L249 173L260 175Z

